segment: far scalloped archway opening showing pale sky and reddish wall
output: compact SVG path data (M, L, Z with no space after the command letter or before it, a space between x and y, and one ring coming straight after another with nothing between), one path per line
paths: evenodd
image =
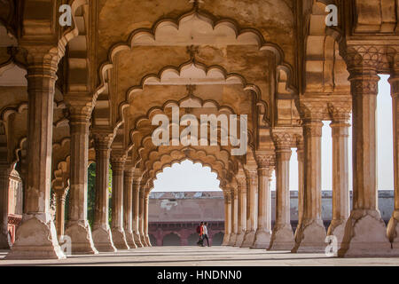
M223 235L224 201L219 184L209 167L190 160L176 162L159 173L150 194L149 233L163 241L153 243L166 246L170 242L164 241L165 233L175 233L181 239L178 245L196 246L200 222L207 222L210 243L215 233Z

